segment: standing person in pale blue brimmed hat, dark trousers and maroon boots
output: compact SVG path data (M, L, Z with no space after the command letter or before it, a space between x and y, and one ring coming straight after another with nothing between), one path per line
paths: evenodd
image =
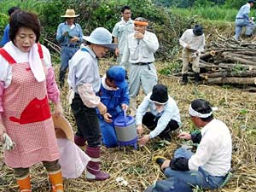
M88 45L82 44L69 62L68 98L72 102L71 108L78 126L75 143L84 145L85 140L88 143L85 153L91 160L86 167L86 178L104 180L109 174L100 170L102 134L96 108L101 114L106 113L107 108L96 96L101 87L98 59L106 55L109 49L115 49L116 44L112 44L111 33L103 27L96 28L90 36L83 38Z

